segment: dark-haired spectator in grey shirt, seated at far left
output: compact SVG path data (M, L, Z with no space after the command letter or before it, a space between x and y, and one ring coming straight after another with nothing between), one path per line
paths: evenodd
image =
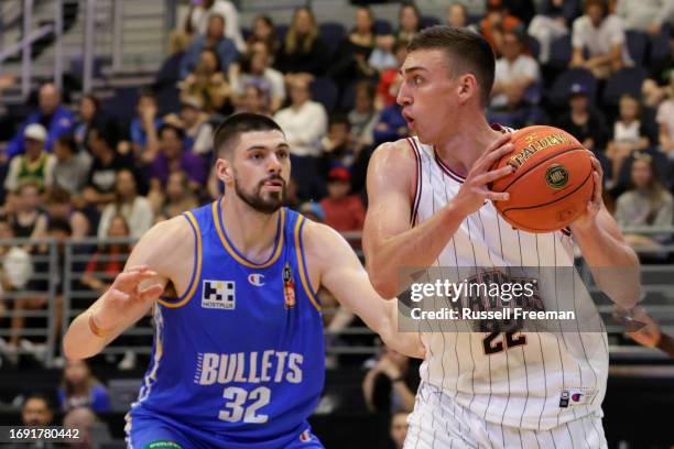
M73 196L78 196L87 185L91 169L91 155L79 150L75 140L62 135L54 142L53 188L63 188Z

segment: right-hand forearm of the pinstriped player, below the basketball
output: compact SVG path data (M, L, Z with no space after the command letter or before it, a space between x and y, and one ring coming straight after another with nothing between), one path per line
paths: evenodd
M590 229L572 226L572 232L599 288L619 306L633 307L641 294L639 258L634 251L598 226Z

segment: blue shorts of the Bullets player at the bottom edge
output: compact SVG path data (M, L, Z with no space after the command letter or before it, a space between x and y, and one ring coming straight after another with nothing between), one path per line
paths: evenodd
M271 440L229 440L164 416L127 415L130 449L323 449L311 427Z

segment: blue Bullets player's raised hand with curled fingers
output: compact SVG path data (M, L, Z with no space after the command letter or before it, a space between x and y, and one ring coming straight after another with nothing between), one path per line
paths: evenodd
M156 300L164 287L153 284L141 288L140 284L157 276L156 272L146 266L133 266L117 275L115 282L105 293L100 308L93 311L93 318L102 330L115 329L124 317L132 316L139 307Z

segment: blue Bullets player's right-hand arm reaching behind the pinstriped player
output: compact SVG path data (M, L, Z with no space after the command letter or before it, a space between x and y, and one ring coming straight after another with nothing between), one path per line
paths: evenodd
M316 284L325 287L343 307L354 311L379 333L384 343L407 357L423 359L418 333L398 332L394 300L383 300L372 287L368 274L347 241L334 229L308 221L303 231L309 270Z

